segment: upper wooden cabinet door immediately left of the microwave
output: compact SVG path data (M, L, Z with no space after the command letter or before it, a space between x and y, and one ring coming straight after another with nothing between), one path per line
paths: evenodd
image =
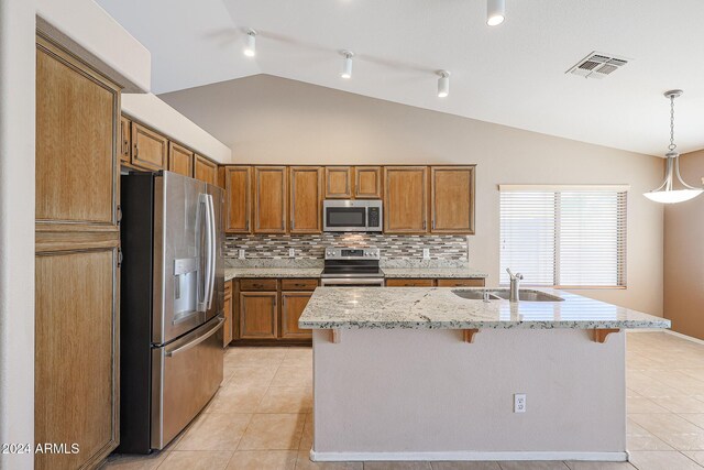
M322 232L321 175L319 166L292 166L289 168L289 229L292 233Z

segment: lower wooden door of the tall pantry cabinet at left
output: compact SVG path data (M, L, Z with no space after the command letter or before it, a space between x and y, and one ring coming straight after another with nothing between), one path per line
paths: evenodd
M36 255L34 438L79 453L36 453L36 469L98 463L118 442L117 247Z

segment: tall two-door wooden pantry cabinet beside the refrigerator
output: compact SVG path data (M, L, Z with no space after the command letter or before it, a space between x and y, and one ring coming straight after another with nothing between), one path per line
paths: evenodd
M34 435L69 451L36 469L118 445L119 129L120 88L37 36Z

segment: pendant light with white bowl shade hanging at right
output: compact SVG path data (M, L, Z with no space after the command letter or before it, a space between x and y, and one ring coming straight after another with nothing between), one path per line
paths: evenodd
M664 94L664 97L670 99L670 145L668 146L668 153L664 155L664 182L657 189L644 193L644 196L656 203L683 203L704 193L704 189L695 188L684 183L680 175L680 153L675 151L678 146L674 144L674 99L680 96L682 96L682 90L670 90ZM681 187L675 188L675 176Z

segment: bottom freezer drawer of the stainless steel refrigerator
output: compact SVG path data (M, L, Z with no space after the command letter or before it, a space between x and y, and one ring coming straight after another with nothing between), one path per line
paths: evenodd
M222 317L152 349L152 449L163 449L222 382Z

